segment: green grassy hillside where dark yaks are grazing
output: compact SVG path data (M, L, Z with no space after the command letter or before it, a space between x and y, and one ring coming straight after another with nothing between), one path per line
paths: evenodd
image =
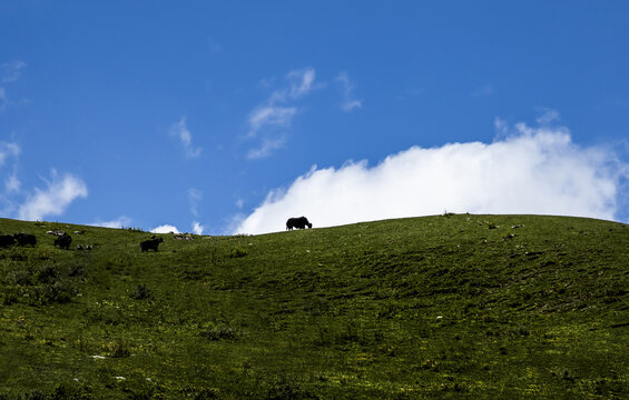
M38 244L0 249L0 399L629 397L621 223L444 214L145 253L137 230L13 232Z

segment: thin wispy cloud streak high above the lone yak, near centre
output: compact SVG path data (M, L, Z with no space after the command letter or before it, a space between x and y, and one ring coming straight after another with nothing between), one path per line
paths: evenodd
M315 79L314 68L293 70L286 76L287 84L284 88L273 91L267 100L254 108L247 119L247 139L257 139L259 143L249 149L248 159L269 157L273 151L284 147L293 118L299 112L296 101L324 87ZM264 82L269 86L273 80Z

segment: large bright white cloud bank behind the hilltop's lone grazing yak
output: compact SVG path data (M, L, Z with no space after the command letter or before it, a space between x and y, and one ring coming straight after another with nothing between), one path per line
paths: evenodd
M313 167L286 190L268 193L248 217L238 217L234 232L283 230L287 218L298 216L316 228L444 210L613 219L619 182L628 177L629 166L611 150L579 147L566 128L518 123L490 144L413 147L375 167L366 161Z

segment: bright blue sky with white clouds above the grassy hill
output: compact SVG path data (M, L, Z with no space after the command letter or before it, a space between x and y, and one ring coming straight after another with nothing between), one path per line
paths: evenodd
M0 217L627 222L627 21L625 1L3 2Z

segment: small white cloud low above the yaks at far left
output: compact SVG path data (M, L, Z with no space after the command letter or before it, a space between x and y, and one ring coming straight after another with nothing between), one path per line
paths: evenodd
M61 179L52 171L52 181L46 181L47 188L35 189L35 193L19 208L19 219L27 221L41 220L47 216L60 216L77 198L88 194L85 182L66 173Z

